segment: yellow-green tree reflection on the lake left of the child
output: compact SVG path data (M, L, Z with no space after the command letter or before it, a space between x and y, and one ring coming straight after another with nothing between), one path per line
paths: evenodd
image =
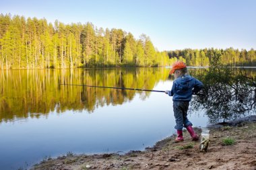
M103 105L119 105L139 93L90 87L63 86L60 83L153 89L168 77L168 69L47 69L0 71L0 122L15 118L38 118L56 110L94 112Z

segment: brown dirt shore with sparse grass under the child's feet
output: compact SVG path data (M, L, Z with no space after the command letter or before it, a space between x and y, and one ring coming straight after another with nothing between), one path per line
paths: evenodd
M256 116L247 120L256 120ZM73 155L42 161L32 169L256 169L256 121L228 122L210 127L210 144L199 152L200 140L191 141L185 131L183 142L175 136L157 142L146 151L125 155ZM195 128L197 134L201 129ZM234 139L225 145L224 138Z

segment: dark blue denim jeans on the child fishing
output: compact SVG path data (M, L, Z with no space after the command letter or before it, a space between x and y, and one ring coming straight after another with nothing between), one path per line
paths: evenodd
M189 101L173 101L173 111L177 130L182 130L183 127L192 126L187 118L187 110L189 109Z

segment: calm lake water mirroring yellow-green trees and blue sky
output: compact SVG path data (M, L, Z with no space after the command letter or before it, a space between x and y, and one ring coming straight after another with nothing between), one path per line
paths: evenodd
M59 83L166 90L170 69L0 72L0 169L26 168L67 153L143 150L172 135L172 97ZM203 112L189 115L206 126Z

